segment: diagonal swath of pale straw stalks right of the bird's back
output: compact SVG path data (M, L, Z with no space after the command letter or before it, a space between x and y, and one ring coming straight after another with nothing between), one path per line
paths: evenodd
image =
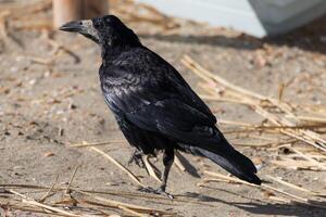
M268 129L275 129L277 132L326 151L326 141L323 137L313 131L311 127L303 127L296 114L296 105L236 86L209 72L188 55L183 58L181 63L208 84L214 84L214 87L221 87L224 90L222 97L218 91L211 90L212 86L204 86L204 89L210 93L206 99L249 105L254 112L268 120ZM321 124L319 118L316 122L315 118L310 120Z

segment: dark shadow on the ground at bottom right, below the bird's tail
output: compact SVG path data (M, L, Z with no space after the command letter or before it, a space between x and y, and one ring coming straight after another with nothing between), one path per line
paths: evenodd
M201 193L195 193L195 192L187 192L185 194L181 194L179 196L183 197L191 197L196 199L200 202L204 203L222 203L226 204L229 206L237 207L239 209L249 212L254 215L276 215L276 216L298 216L298 217L306 217L310 216L312 213L314 216L324 216L326 213L326 202L316 202L316 201L311 201L310 204L304 204L304 203L293 203L293 204L275 204L275 203L269 203L262 200L258 199L252 199L244 195L239 195L236 194L231 191L225 190L225 189L218 189L218 188L211 188L212 190L215 191L223 191L227 192L237 196L241 196L243 199L250 200L251 202L246 202L246 203L239 203L239 202L228 202L224 201L218 197L214 197L211 195L204 195Z

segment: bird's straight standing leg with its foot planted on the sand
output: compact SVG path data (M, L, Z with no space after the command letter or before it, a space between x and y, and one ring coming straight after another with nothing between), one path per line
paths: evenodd
M167 196L168 199L173 199L173 195L165 192L166 184L167 184L167 178L170 174L170 169L174 162L174 150L165 150L163 154L163 165L164 165L164 171L162 174L162 184L159 189L154 190L152 188L141 188L140 191L149 192L149 193L156 193Z

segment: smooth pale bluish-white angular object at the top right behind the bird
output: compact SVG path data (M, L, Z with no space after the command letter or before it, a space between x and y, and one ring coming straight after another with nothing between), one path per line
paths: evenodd
M137 0L167 15L264 37L289 31L326 13L326 0Z

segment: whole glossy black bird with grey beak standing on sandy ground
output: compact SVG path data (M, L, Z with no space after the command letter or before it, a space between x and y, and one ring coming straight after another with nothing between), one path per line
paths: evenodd
M253 163L227 142L215 116L180 74L116 16L74 21L60 29L100 46L104 100L130 145L142 154L163 151L162 186L153 192L168 195L174 150L205 156L242 180L261 183Z

